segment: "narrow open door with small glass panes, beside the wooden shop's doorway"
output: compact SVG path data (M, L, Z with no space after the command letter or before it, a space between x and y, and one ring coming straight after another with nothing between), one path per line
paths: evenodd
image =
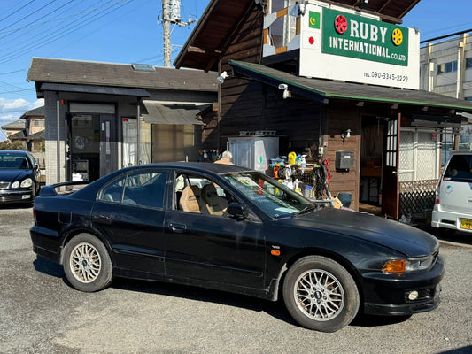
M398 219L399 182L398 151L400 143L400 115L385 122L382 170L382 212Z

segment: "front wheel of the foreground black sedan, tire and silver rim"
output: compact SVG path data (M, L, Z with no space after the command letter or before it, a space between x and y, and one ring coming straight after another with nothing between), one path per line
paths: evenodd
M359 291L351 274L326 257L298 259L290 266L282 291L293 319L320 332L336 332L349 325L359 310Z

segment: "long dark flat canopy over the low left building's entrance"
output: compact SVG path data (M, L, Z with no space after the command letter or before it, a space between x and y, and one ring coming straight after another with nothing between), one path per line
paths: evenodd
M135 96L150 97L150 93L145 89L126 89L112 88L108 86L91 86L91 85L71 85L66 83L49 83L45 82L41 85L41 91L62 91L62 92L81 92L84 94L103 94L117 96Z

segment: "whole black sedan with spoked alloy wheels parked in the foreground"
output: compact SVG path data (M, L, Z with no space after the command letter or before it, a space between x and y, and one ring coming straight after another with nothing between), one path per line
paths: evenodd
M445 263L435 237L317 208L261 173L173 163L71 183L43 187L31 238L81 291L117 276L272 301L281 294L299 324L324 332L359 311L407 316L439 304Z

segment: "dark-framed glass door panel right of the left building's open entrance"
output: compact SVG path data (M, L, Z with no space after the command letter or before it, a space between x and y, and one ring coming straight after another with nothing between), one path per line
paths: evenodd
M118 169L116 123L112 114L100 114L100 177Z

